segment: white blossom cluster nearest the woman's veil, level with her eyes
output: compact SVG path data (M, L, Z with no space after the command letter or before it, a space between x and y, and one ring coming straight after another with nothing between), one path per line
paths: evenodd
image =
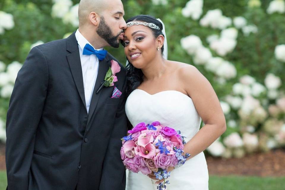
M196 35L190 35L181 39L181 46L187 50L189 55L193 55L196 50L202 47L201 39Z

